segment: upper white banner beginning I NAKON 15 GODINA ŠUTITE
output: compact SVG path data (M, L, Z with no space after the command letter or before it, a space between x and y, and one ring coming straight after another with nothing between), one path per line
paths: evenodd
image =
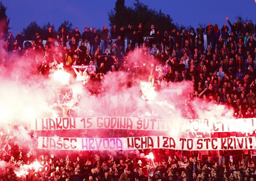
M256 130L256 119L153 119L132 117L39 118L31 130L131 129L178 132L248 132Z

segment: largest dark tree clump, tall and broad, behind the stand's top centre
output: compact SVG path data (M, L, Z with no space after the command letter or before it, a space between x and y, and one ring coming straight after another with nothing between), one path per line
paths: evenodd
M149 34L149 27L151 24L155 25L156 29L163 33L165 30L170 31L177 26L173 23L169 14L164 14L161 10L156 11L149 9L147 5L140 3L136 0L133 3L134 7L126 7L124 0L117 0L116 7L108 13L109 25L116 25L117 28L128 25L138 27L141 23L146 29L146 33Z

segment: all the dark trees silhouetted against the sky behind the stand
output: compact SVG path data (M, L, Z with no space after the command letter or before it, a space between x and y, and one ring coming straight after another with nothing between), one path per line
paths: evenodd
M7 7L4 6L2 1L0 2L0 32L3 32L7 35L8 30L10 29L10 18L6 15ZM141 23L144 27L151 27L151 24L155 25L157 30L160 32L164 32L166 30L176 29L178 31L182 31L185 29L188 31L191 26L184 26L178 23L174 23L173 19L169 14L163 13L161 10L156 11L155 9L148 8L147 5L141 3L139 0L135 0L133 3L133 7L126 7L124 4L124 0L116 0L116 6L113 10L108 12L109 26L113 27L116 25L117 28L124 26L124 28L128 27L128 25L132 25L133 27L138 27ZM242 18L241 15L236 16L236 19L239 19L240 22L248 22L248 18ZM205 27L205 23L198 23L198 26ZM39 33L40 36L45 40L45 35L48 31L48 28L52 27L52 32L57 35L58 32L61 31L62 27L64 30L70 35L71 32L74 31L73 24L68 20L64 20L63 23L56 30L55 26L48 22L43 26L40 26L36 23L36 21L31 22L26 28L23 28L22 35L28 40L32 40L32 37L35 33ZM146 34L149 34L149 28L146 28ZM97 32L100 33L100 28L97 29Z

